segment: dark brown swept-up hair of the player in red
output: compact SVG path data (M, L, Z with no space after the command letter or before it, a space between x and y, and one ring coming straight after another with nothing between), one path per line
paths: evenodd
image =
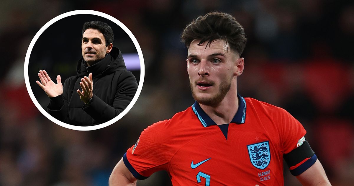
M194 19L182 33L182 42L189 48L194 39L199 39L199 45L208 41L224 39L230 48L241 55L246 45L245 32L236 19L221 12L209 12Z

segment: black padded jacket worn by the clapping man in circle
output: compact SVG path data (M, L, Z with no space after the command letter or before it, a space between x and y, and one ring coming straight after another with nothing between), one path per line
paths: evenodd
M65 80L63 94L51 98L47 112L56 119L76 126L92 126L107 122L121 113L133 99L138 83L127 71L120 50L113 47L103 60L87 67L79 60L77 75ZM81 78L92 72L93 99L89 106L80 100Z

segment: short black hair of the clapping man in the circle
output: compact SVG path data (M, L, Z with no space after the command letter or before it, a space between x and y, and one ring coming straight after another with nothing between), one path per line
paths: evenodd
M84 23L84 26L82 27L81 39L82 36L84 35L85 30L89 28L96 29L103 34L104 40L106 42L106 46L108 46L110 43L113 44L113 40L114 40L113 30L107 23L101 21L90 21Z

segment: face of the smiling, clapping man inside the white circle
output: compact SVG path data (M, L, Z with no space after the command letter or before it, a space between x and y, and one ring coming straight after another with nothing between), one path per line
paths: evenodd
M105 46L105 39L101 32L96 29L87 29L82 35L82 57L89 66L101 61L106 53L112 49L112 44Z

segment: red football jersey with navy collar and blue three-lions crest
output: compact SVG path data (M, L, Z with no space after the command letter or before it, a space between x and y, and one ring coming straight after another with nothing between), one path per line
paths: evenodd
M216 125L197 102L154 123L124 154L125 165L137 179L166 170L173 185L284 185L283 155L305 129L282 108L238 98L230 124Z

